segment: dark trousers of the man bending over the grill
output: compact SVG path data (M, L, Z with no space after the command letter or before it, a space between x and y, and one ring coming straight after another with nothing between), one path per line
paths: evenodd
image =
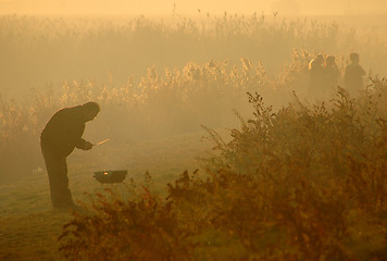
M40 147L50 181L52 207L63 208L73 206L72 194L68 189L66 157L55 156L45 142L40 142Z

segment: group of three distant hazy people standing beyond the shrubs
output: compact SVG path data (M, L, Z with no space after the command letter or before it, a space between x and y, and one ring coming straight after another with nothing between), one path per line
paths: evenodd
M344 74L344 87L354 94L364 86L364 69L359 64L359 53L349 55L350 63ZM309 95L313 97L326 96L336 88L341 79L341 72L336 63L335 55L317 54L309 63Z

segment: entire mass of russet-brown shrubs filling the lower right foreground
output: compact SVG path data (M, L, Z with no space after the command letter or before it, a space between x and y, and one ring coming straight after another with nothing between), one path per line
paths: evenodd
M201 171L168 184L165 199L140 189L128 203L99 201L103 208L65 226L62 252L70 260L108 257L98 249L113 260L152 260L159 248L159 260L384 260L387 122L377 103L387 86L369 87L357 99L339 88L311 108L296 97L278 111L249 94L253 115L240 119L230 141L205 128L214 150ZM149 244L138 248L143 237Z

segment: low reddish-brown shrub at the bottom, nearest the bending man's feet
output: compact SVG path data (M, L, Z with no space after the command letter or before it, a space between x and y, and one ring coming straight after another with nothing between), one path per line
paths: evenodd
M128 198L111 189L97 194L89 210L64 226L61 248L68 260L190 260L190 228L179 226L172 202L149 184L132 183ZM135 194L133 194L135 191Z

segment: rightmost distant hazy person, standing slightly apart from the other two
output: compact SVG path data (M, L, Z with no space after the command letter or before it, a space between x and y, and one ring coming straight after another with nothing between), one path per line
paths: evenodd
M346 67L346 73L344 75L345 87L349 91L358 91L363 88L363 76L365 75L364 69L359 64L359 53L352 52L349 55L351 61Z

